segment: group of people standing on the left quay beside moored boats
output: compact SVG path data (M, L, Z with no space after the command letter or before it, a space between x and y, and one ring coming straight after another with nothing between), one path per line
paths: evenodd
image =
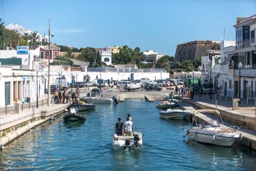
M72 93L70 91L64 90L62 93L61 91L55 90L54 92L54 102L58 104L64 104L65 100L66 103L76 102L78 98L80 98L80 90L76 88L75 92Z

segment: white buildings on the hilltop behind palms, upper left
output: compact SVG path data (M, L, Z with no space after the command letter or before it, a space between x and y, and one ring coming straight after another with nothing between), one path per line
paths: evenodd
M17 33L19 33L21 36L25 33L31 34L36 32L27 28L23 28L23 26L18 25L17 23L9 23L5 26L5 28L8 30L16 30ZM45 36L44 34L40 33L37 33L37 35L39 35L39 42L49 42L49 36Z

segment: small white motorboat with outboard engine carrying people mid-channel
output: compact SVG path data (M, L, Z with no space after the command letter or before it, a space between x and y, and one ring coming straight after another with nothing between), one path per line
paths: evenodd
M114 134L113 137L113 149L142 149L142 132L134 132L133 136L118 136Z

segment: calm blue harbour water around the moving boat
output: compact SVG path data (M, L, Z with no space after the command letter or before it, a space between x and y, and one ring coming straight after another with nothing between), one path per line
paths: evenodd
M183 134L191 124L160 119L156 104L98 105L84 123L56 117L5 146L1 170L256 170L256 152L188 142ZM141 151L112 149L114 124L127 113L144 135Z

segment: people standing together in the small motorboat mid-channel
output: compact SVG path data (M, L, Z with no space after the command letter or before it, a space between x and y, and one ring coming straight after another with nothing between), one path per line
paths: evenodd
M118 117L114 132L117 136L133 136L133 119L131 119L130 114L127 114L125 123Z

